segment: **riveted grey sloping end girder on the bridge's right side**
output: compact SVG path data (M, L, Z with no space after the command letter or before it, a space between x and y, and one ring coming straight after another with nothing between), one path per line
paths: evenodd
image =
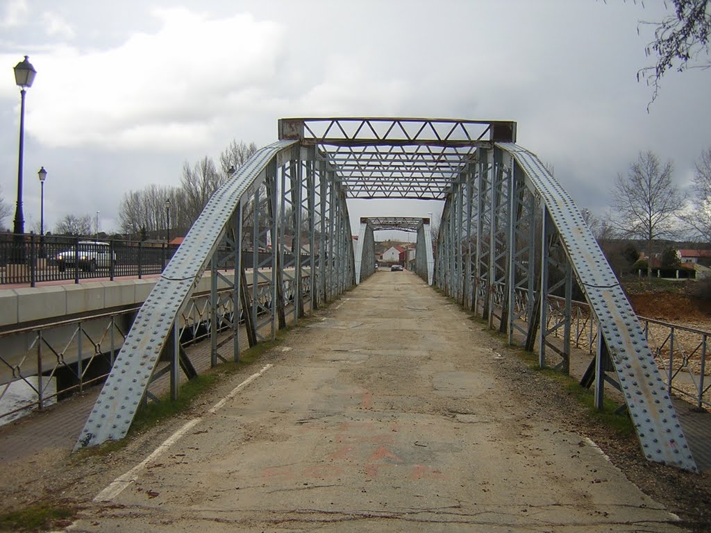
M646 458L696 470L641 325L570 195L534 154L514 143L496 146L513 157L525 173L526 185L545 204L573 274L599 322Z

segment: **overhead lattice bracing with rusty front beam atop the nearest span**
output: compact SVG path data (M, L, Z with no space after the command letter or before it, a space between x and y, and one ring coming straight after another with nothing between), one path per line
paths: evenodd
M348 198L444 200L477 149L515 141L515 122L459 119L281 119L280 139L316 146Z

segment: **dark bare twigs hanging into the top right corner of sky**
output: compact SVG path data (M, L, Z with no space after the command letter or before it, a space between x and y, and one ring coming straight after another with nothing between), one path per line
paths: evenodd
M711 0L670 0L673 15L662 21L643 25L656 26L654 40L647 45L647 55L656 55L656 65L641 69L638 79L653 87L653 102L659 95L661 78L669 70L683 72L688 68L709 68L709 33L711 31ZM651 103L650 102L650 103Z

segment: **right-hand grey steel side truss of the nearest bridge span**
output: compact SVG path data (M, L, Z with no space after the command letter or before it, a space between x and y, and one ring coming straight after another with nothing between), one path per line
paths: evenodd
M583 379L594 385L596 406L604 383L614 384L646 458L696 470L646 335L570 196L516 144L478 155L444 205L437 285L508 333L510 343L522 333L526 348L538 345L541 366L567 371L576 282L597 323L597 350Z

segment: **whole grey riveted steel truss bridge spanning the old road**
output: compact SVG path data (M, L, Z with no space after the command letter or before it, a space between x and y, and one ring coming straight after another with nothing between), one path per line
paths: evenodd
M210 198L141 307L75 449L126 435L159 362L169 362L173 398L181 369L193 375L176 319L203 271L213 280L213 362L223 358L218 324L239 360L240 335L250 346L272 340L287 319L297 323L373 274L373 233L397 228L417 232L424 280L510 343L525 339L541 366L568 370L579 291L597 338L583 378L597 407L604 383L613 383L646 458L696 470L616 276L570 195L515 137L515 122L502 121L280 119L279 140ZM354 247L349 198L444 200L439 233L427 218L363 218ZM554 342L561 331L562 347Z

